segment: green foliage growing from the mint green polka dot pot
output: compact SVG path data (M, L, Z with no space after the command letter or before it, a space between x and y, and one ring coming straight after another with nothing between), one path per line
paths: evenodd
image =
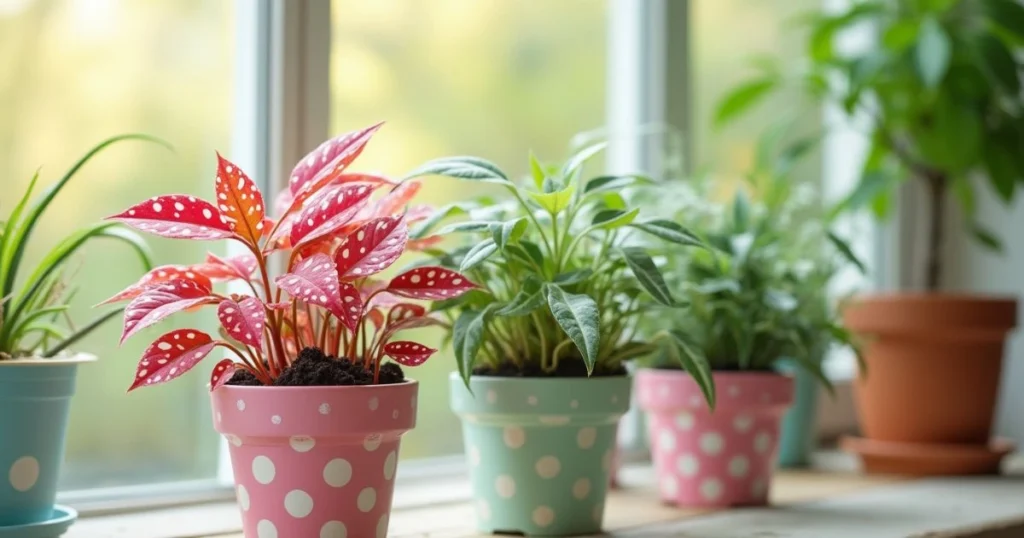
M675 316L685 305L655 258L702 243L676 221L641 216L618 194L650 178L584 179L585 163L603 148L588 146L560 166L531 156L530 174L518 184L475 157L438 159L410 173L496 183L511 195L451 205L413 232L416 238L468 237L462 248L435 252L437 261L485 286L435 305L452 320L459 372L467 384L474 373L621 375L624 363L666 341L714 405L707 363L670 332L650 338L637 333L639 320L654 315L654 307ZM459 218L434 230L450 217ZM645 248L640 236L659 239L659 248Z

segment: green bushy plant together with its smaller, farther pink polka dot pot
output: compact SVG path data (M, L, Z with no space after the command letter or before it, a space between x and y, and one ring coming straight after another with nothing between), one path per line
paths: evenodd
M852 258L847 245L821 222L800 215L793 185L762 185L764 204L742 189L727 208L703 210L706 196L688 184L659 196L714 247L670 258L669 286L689 306L672 318L647 318L646 330L669 330L707 363L718 390L714 409L679 370L669 349L643 362L637 397L648 413L650 446L663 501L682 506L764 505L768 502L780 421L794 401L794 368L830 389L821 370L825 348L850 343L823 296L829 263L808 247L836 247L833 258ZM682 207L680 207L682 205ZM812 385L814 388L816 386Z

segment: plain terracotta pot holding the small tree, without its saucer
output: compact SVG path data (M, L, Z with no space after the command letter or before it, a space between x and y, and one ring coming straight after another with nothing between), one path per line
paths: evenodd
M851 304L844 319L865 341L867 371L854 387L864 436L919 444L989 442L1004 342L1017 324L1016 299L869 296Z

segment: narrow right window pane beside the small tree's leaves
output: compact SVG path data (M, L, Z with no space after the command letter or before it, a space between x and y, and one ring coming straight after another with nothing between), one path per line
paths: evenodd
M796 58L803 53L806 32L795 27L796 15L820 5L821 0L763 2L717 0L691 2L693 134L695 168L710 167L723 185L734 184L738 174L750 171L757 138L765 129L800 114L803 135L819 127L815 106L798 91L780 91L743 114L725 128L713 128L720 99L737 84L758 74L756 58ZM798 66L781 64L785 70ZM820 160L806 159L798 177L817 180Z

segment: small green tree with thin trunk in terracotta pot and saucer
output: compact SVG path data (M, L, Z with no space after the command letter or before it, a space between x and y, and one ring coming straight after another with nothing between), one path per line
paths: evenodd
M865 295L845 314L866 338L870 371L855 385L866 439L846 446L868 470L990 472L1011 448L991 433L1017 299L943 293L941 285L948 199L958 202L979 244L998 249L994 234L976 221L978 183L1009 203L1024 173L1024 96L1014 53L1024 37L1021 19L1024 7L1011 0L858 2L808 17L809 69L797 80L848 116L865 118L869 137L860 182L839 209L870 205L884 217L906 179L927 193L924 292ZM838 49L835 37L855 25L872 29L864 45ZM770 70L744 84L720 117L784 80Z

